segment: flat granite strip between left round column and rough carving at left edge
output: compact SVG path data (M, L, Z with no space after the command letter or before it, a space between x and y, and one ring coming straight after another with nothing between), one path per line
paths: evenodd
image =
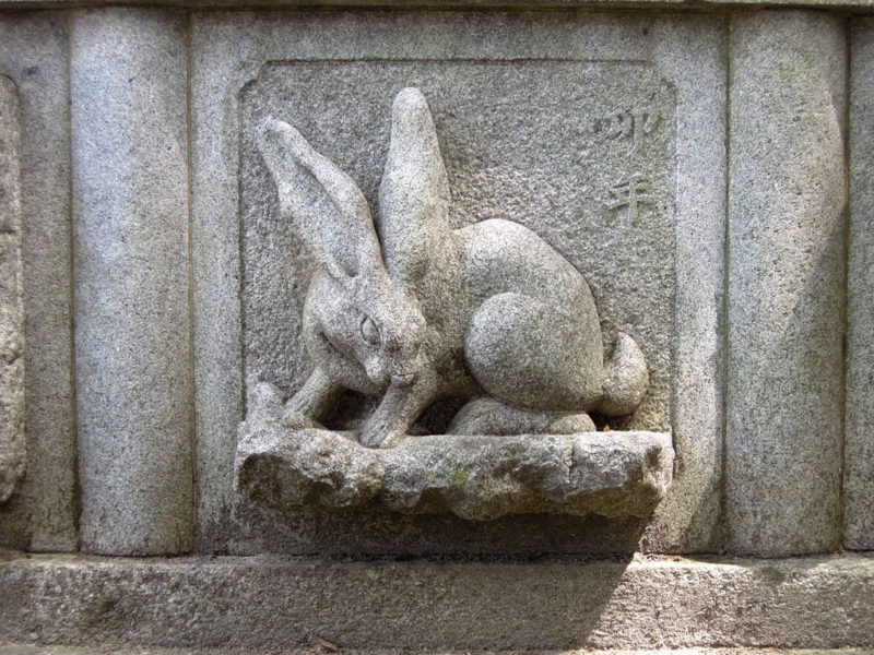
M0 16L0 74L21 108L27 475L0 507L0 544L76 547L67 16Z

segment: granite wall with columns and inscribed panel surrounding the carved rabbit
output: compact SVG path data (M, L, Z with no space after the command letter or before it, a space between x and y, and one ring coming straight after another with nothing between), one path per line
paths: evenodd
M12 559L0 579L16 593L63 579L67 564L27 569L14 551L190 555L185 571L153 573L204 585L198 558L235 556L222 575L245 569L253 594L267 556L318 568L327 556L627 564L634 552L874 550L869 0L218 4L0 2L0 547ZM283 512L235 490L247 380L292 395L312 370L302 311L316 264L279 217L260 121L294 124L376 212L391 102L405 86L430 105L452 226L530 227L586 276L607 338L639 344L646 400L624 419L595 418L670 433L673 480L651 515ZM874 593L859 557L852 575ZM130 574L151 575L138 561ZM282 575L300 584L296 570ZM343 575L336 590L362 584ZM415 571L403 575L414 593ZM78 598L79 583L64 584ZM647 593L670 593L659 588ZM40 598L31 602L56 611ZM488 607L483 616L500 614ZM3 611L0 639L76 643ZM818 641L751 629L736 643L874 646L860 616L866 631L847 641L823 627ZM660 645L592 641L611 630L592 620L541 645ZM538 646L461 632L421 643ZM731 645L729 632L661 645ZM358 646L418 643L349 634ZM186 639L170 645L198 645Z

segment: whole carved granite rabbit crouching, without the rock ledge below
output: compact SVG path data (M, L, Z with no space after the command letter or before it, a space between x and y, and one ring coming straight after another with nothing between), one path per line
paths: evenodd
M359 439L386 446L445 396L472 398L457 433L593 429L588 412L628 414L643 398L640 349L619 334L604 364L594 300L570 262L509 221L450 228L418 90L392 106L376 225L355 182L292 126L265 120L259 145L281 215L320 264L304 306L315 370L292 409L318 421L343 389L381 395Z

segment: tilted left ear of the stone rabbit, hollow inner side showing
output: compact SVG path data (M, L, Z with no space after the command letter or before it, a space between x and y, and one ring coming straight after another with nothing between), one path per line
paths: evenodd
M288 123L265 120L259 148L273 176L280 211L328 273L342 281L382 266L370 210L345 172Z

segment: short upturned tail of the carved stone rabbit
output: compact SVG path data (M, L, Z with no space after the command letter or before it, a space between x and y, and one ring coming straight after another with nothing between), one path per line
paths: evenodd
M635 340L619 332L605 368L598 412L607 416L630 414L642 402L649 388L647 360Z

